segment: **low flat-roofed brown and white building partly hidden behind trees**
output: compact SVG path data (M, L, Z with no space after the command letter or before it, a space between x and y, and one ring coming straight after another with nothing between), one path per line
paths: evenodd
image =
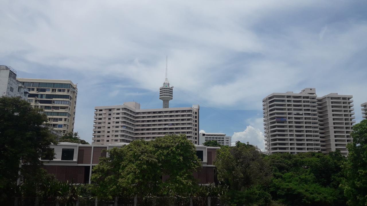
M43 168L48 173L54 174L58 180L73 183L91 183L93 166L99 163L99 157L106 157L106 152L113 147L123 147L128 143L117 143L107 145L90 145L77 143L58 143L51 145L54 148L55 158L53 160L42 160ZM196 145L196 155L201 161L201 168L193 172L193 176L199 184L216 182L215 166L213 165L216 151L219 147L206 147ZM163 177L163 180L167 177Z

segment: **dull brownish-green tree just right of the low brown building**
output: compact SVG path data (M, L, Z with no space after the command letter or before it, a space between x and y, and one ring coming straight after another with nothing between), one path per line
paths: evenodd
M270 194L264 186L271 180L271 170L265 155L251 144L236 142L236 146L222 146L217 150L214 165L218 180L229 185L222 201L229 205L269 205Z

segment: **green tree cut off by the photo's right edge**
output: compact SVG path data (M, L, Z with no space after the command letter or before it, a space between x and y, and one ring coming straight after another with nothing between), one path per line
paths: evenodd
M353 143L347 145L349 155L344 165L344 194L348 205L367 205L367 119L353 125Z

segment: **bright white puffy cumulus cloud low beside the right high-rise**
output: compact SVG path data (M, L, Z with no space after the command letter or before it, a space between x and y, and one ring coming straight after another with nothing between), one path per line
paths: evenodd
M259 147L261 151L264 151L264 133L253 126L247 126L243 132L235 132L232 135L232 146L236 141L243 143L250 143Z

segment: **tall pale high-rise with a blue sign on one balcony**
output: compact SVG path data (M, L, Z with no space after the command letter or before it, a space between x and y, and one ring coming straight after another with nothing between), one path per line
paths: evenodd
M265 150L277 152L341 150L351 142L353 96L330 93L318 98L315 88L300 93L272 93L263 99Z

